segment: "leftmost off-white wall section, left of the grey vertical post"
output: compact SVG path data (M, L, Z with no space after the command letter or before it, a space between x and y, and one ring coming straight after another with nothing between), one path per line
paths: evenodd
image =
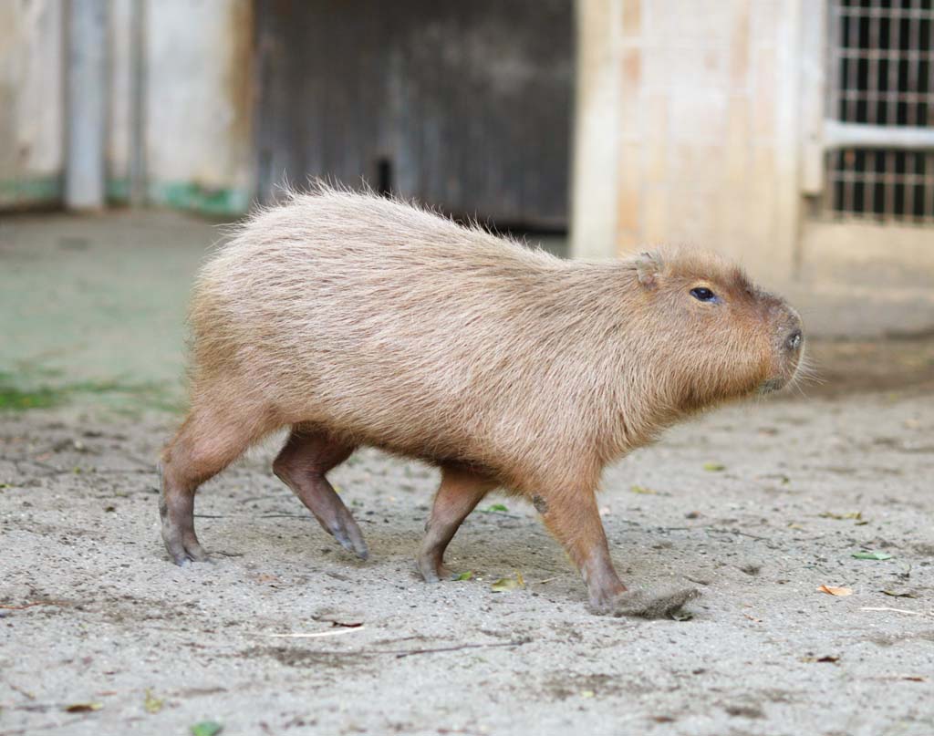
M63 6L0 2L0 207L62 197Z

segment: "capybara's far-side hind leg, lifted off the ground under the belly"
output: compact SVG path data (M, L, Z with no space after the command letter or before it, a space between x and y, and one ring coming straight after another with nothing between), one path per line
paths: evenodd
M366 559L369 552L360 527L325 477L353 451L353 445L295 426L273 461L273 472L302 500L324 531L345 549Z

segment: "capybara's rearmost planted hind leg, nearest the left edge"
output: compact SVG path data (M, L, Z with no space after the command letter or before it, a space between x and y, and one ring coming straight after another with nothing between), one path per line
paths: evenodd
M224 421L196 411L165 447L159 516L165 549L177 565L207 559L194 533L194 492L247 449L256 429L249 422Z

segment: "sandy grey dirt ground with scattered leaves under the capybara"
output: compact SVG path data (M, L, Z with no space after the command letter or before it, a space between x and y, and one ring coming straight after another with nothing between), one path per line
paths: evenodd
M0 736L934 734L934 336L814 341L824 383L607 471L617 568L701 589L686 620L589 615L513 499L425 585L437 474L372 450L333 474L360 562L269 472L281 438L202 488L214 562L179 569L153 462L213 233L153 218L0 223Z

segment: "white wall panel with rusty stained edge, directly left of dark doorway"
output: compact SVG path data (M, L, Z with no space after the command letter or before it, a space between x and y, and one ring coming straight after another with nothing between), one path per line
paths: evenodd
M252 3L148 3L149 197L243 211L253 192Z

